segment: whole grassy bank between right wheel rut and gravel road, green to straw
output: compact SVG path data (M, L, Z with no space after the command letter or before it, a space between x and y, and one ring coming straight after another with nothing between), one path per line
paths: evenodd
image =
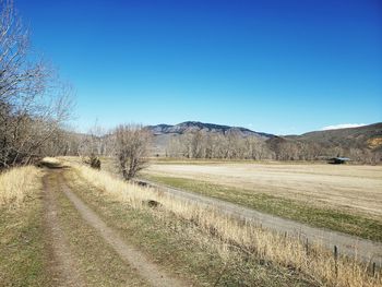
M130 240L154 252L157 261L180 274L189 271L196 278L208 280L211 276L203 273L208 264L208 274L215 271L214 279L222 280L222 285L239 285L241 279L247 285L272 286L277 277L282 278L277 286L382 284L380 275L372 277L368 266L342 256L335 262L319 246L310 246L307 252L305 243L295 238L263 230L215 210L126 183L104 171L84 166L74 166L74 170L67 174L73 190L81 190L79 194L110 225L124 230ZM87 182L81 183L81 178ZM87 188L89 183L94 189ZM158 203L156 208L148 207L151 201ZM259 270L265 276L260 276ZM259 278L263 280L251 282Z

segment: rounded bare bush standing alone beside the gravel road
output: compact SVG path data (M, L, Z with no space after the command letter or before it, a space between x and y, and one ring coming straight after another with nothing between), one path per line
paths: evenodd
M114 135L119 169L123 178L130 180L147 164L152 133L142 125L122 124Z

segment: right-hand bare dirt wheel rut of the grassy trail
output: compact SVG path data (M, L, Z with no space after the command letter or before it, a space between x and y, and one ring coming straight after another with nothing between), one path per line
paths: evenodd
M57 171L50 171L57 172ZM167 273L160 270L159 266L152 263L145 254L140 252L135 247L128 244L119 234L106 225L106 223L93 212L80 198L77 198L68 187L64 178L59 172L59 183L61 191L68 196L68 199L76 207L83 219L93 228L95 228L99 236L119 254L119 256L126 261L130 266L134 267L152 286L167 287L167 286L188 286L181 280L169 276ZM48 189L49 190L49 189ZM53 199L50 199L50 204L53 204ZM62 246L62 242L57 241L58 246ZM59 247L58 247L59 248ZM64 259L62 259L64 261ZM70 262L64 261L65 263ZM70 270L65 270L70 271ZM76 286L76 285L67 285Z

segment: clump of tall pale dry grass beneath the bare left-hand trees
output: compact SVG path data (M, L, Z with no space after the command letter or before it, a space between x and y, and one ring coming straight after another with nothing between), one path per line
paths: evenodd
M0 174L0 207L20 207L40 184L40 171L34 166L16 167Z

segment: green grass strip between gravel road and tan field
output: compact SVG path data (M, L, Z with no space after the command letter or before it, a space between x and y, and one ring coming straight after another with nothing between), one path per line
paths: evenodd
M145 175L144 177L169 187L225 200L267 214L382 242L382 222L361 215L306 205L301 202L259 193L253 190L231 188L194 179L152 175Z

